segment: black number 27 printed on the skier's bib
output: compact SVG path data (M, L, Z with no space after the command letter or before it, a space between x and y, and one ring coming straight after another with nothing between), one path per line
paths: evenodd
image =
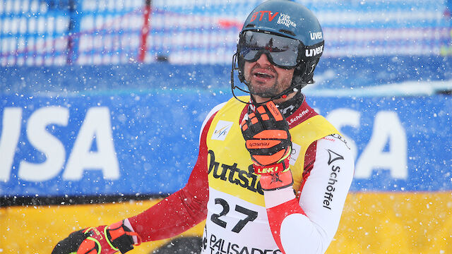
M212 214L210 217L210 220L217 224L218 226L221 226L222 228L226 228L226 222L220 219L220 217L225 216L229 211L230 207L226 200L222 198L215 198L215 204L221 205L223 207L222 211L218 214ZM244 219L240 219L239 222L232 228L232 232L239 233L243 227L248 222L254 221L254 219L257 218L257 212L253 210L246 209L245 207L242 207L240 205L235 205L235 211L245 214L246 217Z

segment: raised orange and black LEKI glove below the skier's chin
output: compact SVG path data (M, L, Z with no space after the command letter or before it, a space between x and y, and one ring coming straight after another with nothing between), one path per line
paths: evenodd
M254 173L261 175L262 189L272 191L292 186L289 125L275 104L270 101L258 106L241 126L246 149L254 162Z

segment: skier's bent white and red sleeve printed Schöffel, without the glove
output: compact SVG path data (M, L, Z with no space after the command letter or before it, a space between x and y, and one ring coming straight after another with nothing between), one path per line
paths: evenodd
M307 156L315 160L304 174L299 202L292 188L264 191L273 237L285 254L325 253L353 178L354 158L343 141L328 136L309 148Z

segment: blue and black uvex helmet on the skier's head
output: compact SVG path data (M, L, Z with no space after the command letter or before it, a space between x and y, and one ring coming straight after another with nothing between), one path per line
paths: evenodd
M240 82L248 85L244 78L244 56L241 54L241 38L246 31L262 32L298 40L298 56L292 84L280 95L271 99L278 99L294 89L301 89L309 83L314 83L314 68L323 53L323 32L319 20L308 8L289 0L270 0L260 4L246 18L237 42L237 52L232 60L231 86L246 91L234 85L234 70L238 71ZM234 95L235 97L235 95Z

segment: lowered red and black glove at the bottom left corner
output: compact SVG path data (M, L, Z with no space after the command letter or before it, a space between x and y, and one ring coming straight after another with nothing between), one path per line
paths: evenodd
M140 236L124 226L124 221L109 226L90 227L71 233L57 243L52 254L109 254L118 250L126 253L133 249L132 236L138 238L135 245L140 245Z

